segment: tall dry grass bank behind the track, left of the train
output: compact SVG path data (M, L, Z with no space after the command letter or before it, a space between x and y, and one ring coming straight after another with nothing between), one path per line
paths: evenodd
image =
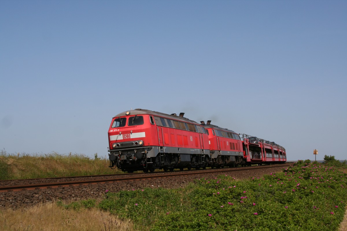
M27 179L121 173L109 167L109 160L84 154L8 154L0 152L0 179Z

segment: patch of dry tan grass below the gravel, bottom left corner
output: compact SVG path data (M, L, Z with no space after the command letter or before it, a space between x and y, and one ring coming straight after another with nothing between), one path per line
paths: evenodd
M0 230L16 231L132 231L130 221L121 221L108 212L97 208L79 211L66 210L55 203L41 204L31 208L0 211Z

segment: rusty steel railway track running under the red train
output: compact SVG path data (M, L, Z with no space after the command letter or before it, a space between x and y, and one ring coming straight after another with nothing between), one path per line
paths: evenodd
M33 190L33 189L44 189L44 188L57 188L57 187L68 187L77 185L91 185L91 184L104 184L108 182L119 182L119 181L134 181L141 179L154 179L154 178L165 178L165 177L177 177L177 176L188 176L188 175L201 175L201 174L211 174L211 173L222 173L230 171L240 171L240 170L252 170L261 168L273 168L273 167L286 167L292 163L285 163L280 165L263 165L263 166L251 166L251 167L240 167L240 168L220 168L220 169L205 169L205 170L190 170L190 171L174 171L174 172L153 172L150 174L135 173L135 174L120 174L120 175L99 175L99 176L79 176L79 177L56 177L56 178L40 178L40 179L30 179L35 182L35 180L58 180L58 179L70 179L69 181L60 182L43 182L43 183L33 183L33 184L16 184L16 185L5 185L0 186L0 192L16 192L21 190ZM81 179L81 177L87 178L98 178L98 179L88 179L88 180L74 180ZM107 178L106 178L107 177ZM27 180L17 180L18 182Z

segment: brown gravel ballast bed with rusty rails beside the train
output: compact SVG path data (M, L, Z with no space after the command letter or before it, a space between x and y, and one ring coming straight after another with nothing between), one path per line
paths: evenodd
M271 172L282 171L286 165L259 166L263 168L223 168L194 171L178 172L155 172L153 174L126 174L115 176L101 176L101 179L79 178L78 180L59 180L59 179L32 179L31 186L20 188L18 184L25 185L24 181L16 181L16 184L8 181L8 186L12 185L7 191L6 185L2 185L0 192L0 208L19 208L28 207L38 203L51 202L57 200L79 200L79 199L102 199L105 192L119 192L121 190L137 190L143 188L180 188L188 183L201 178L214 178L218 175L228 175L236 180L249 179L251 177L262 177ZM264 168L265 167L265 168ZM103 179L102 179L103 178ZM71 178L73 179L73 178ZM51 181L56 182L51 182ZM38 183L40 181L40 183ZM49 181L42 183L43 181ZM60 181L57 183L57 181ZM3 182L1 182L3 183ZM39 186L40 184L40 186ZM16 188L17 187L17 188Z

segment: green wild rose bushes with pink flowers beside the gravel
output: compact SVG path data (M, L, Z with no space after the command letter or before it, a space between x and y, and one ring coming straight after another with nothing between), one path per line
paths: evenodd
M261 179L219 176L185 189L108 194L99 206L139 230L338 230L346 181L346 174L307 160Z

